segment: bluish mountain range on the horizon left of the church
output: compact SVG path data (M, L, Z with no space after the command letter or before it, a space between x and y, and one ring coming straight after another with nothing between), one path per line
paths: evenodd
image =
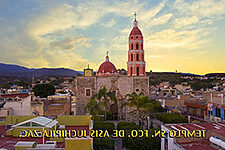
M41 77L41 76L77 76L81 71L67 68L26 68L19 65L0 63L0 76Z

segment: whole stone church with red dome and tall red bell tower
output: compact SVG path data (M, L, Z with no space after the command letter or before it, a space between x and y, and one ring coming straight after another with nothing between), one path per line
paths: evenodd
M96 75L89 67L84 69L84 76L79 76L75 81L76 91L76 114L84 115L84 108L89 99L96 94L102 87L106 87L108 91L114 92L118 105L109 105L108 111L111 111L118 120L129 120L129 112L132 108L128 106L122 107L126 102L126 95L133 92L143 92L149 95L149 77L145 72L145 57L143 47L143 35L138 28L138 21L133 22L133 29L129 35L129 50L127 61L127 75L120 75L116 66L110 62L110 58L106 56ZM125 61L125 60L124 60Z

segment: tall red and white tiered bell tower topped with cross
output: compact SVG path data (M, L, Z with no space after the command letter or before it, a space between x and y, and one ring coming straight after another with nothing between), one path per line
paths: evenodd
M135 13L133 29L131 30L129 36L127 76L146 76L143 36L140 29L138 28L136 15L137 14Z

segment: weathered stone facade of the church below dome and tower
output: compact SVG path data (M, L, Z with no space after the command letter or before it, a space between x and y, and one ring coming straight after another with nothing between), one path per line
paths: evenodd
M76 114L84 115L84 108L92 95L96 94L102 87L108 91L115 92L118 99L118 117L121 120L127 119L129 108L121 107L126 101L126 95L133 92L143 92L149 95L149 77L128 77L128 76L80 76L76 78ZM89 94L90 92L90 94ZM109 106L109 110L110 110Z

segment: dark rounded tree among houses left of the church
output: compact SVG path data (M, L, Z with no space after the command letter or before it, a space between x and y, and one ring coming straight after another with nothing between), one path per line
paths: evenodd
M32 90L35 96L40 96L41 98L55 94L55 87L52 84L37 84Z

